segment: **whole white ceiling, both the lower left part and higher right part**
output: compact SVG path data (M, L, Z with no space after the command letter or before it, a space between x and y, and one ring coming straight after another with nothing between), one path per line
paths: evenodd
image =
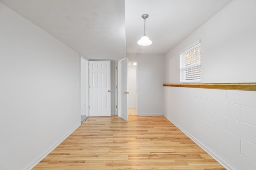
M0 0L88 59L166 54L232 0ZM144 34L150 46L137 41Z

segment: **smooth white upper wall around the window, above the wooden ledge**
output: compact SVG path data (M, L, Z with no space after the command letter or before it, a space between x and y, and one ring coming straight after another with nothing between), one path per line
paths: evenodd
M182 49L201 39L201 82L256 82L256 1L233 0L166 55L166 82L180 82Z

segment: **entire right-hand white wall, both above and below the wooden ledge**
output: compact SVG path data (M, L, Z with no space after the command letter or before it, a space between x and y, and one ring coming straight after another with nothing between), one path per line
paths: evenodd
M256 82L255 0L233 0L166 54L179 83L179 53L201 39L202 83ZM256 169L256 92L164 88L164 115L228 169Z

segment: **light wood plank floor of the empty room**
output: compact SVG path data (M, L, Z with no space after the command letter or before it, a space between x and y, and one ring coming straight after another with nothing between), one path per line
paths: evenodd
M89 117L33 170L225 170L164 116Z

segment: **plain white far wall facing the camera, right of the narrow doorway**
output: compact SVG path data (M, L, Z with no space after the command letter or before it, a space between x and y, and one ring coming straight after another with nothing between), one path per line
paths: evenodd
M132 55L128 60L138 61L138 115L163 115L165 79L164 55Z

